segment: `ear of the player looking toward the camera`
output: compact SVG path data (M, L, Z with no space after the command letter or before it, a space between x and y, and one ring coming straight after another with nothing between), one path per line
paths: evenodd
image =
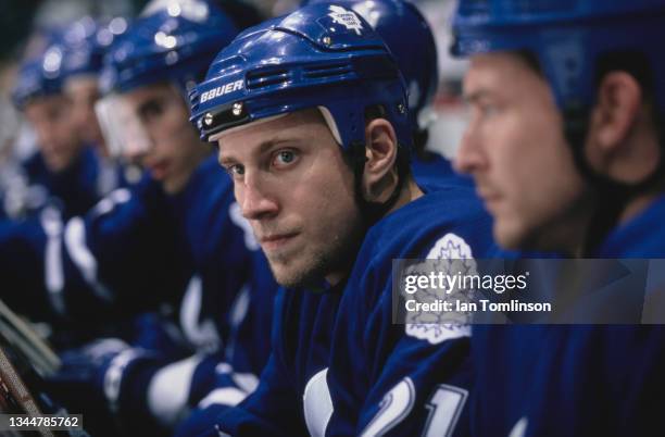
M365 171L363 197L368 202L384 203L398 185L394 165L398 152L397 135L390 122L375 118L365 127Z

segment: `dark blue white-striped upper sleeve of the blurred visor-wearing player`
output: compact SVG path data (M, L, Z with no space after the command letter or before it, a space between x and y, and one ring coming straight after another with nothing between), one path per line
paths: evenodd
M181 295L191 276L183 239L174 228L165 196L154 182L115 190L85 216L64 225L62 255L45 259L47 272L55 276L61 272L65 282L58 284L47 276L47 288L68 294L70 305L80 300L77 288L67 287L66 279L74 277L83 279L84 295L92 294L123 311L171 301ZM141 292L146 289L161 292Z

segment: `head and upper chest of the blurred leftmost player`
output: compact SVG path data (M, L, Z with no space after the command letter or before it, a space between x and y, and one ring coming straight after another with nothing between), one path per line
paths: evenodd
M13 89L14 104L37 134L38 152L23 164L25 182L11 186L14 192L5 195L13 199L7 211L12 218L29 216L47 205L68 218L89 210L105 193L97 186L97 155L80 141L71 102L63 95L62 53L62 45L53 43L26 61Z

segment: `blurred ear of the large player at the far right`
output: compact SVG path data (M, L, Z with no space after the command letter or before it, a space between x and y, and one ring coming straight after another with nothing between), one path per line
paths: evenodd
M597 172L624 183L645 179L658 162L658 147L637 79L607 73L598 87L587 141L587 160Z

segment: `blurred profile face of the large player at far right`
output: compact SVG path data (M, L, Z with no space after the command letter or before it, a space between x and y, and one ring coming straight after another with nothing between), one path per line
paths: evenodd
M455 164L474 176L498 242L559 249L575 238L584 185L547 82L515 54L482 54L464 93L470 120Z

